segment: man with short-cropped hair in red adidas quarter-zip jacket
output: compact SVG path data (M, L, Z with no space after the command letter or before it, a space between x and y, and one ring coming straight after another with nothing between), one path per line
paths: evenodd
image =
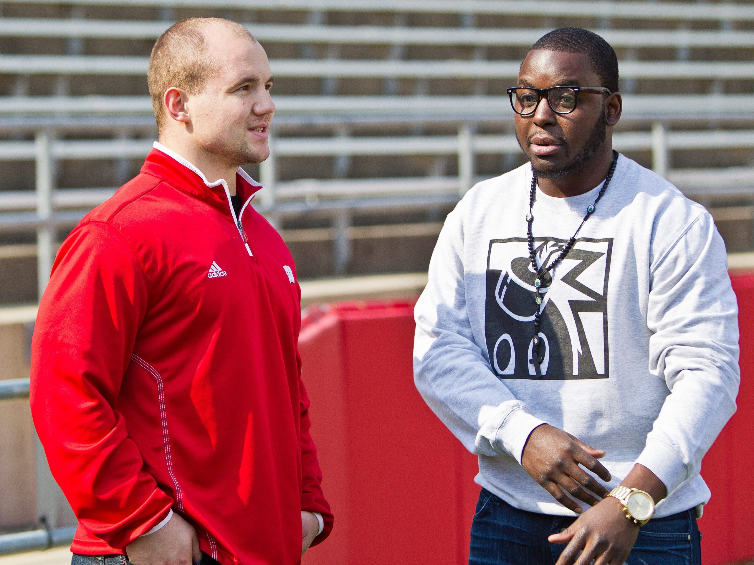
M239 168L268 157L271 85L242 26L168 29L149 63L160 142L58 252L31 402L74 565L288 565L333 526L296 268Z

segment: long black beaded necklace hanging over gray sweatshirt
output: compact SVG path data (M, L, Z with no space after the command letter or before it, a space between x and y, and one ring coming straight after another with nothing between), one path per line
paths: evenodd
M608 185L610 184L610 181L612 179L613 173L615 173L615 165L618 163L618 151L613 150L613 161L610 166L610 172L608 173L608 176L605 178L605 183L602 185L602 188L599 190L599 194L597 194L597 197L594 199L594 203L587 206L587 213L584 215L584 219L581 220L581 224L578 225L578 228L576 228L575 233L571 237L570 240L568 240L568 243L566 243L566 246L561 249L561 251L558 253L558 256L553 259L553 262L550 263L550 265L547 268L544 268L545 265L543 264L542 267L537 267L537 256L534 251L534 236L532 235L532 223L534 222L534 215L532 214L532 211L534 210L534 201L537 198L537 175L536 173L532 173L532 189L529 191L529 213L526 215L526 223L528 224L528 227L526 228L526 241L529 243L529 259L532 261L532 269L535 273L537 273L537 278L534 281L534 287L535 287L535 297L534 300L537 303L537 312L534 315L534 337L532 339L532 360L529 362L530 365L534 365L534 370L538 378L542 377L542 371L541 371L541 363L544 361L544 358L539 356L539 319L542 316L542 313L544 312L544 306L542 306L542 295L541 295L541 288L544 283L544 276L547 275L547 273L550 273L555 267L558 266L560 261L566 258L566 255L569 254L571 249L573 249L573 246L576 243L576 236L578 236L578 232L581 231L581 228L584 226L584 223L589 219L589 216L594 213L596 210L597 203L599 202L599 199L602 198L602 194L605 194L605 191L608 188Z

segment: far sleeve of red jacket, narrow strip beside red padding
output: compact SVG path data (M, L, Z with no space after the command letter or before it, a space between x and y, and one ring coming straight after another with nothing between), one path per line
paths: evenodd
M318 512L322 516L324 528L311 542L311 545L317 545L322 543L333 530L333 512L330 511L329 504L322 492L322 471L320 470L320 463L317 461L317 447L314 446L314 441L309 433L311 426L309 422L309 398L300 376L299 390L301 391L301 509L308 512Z

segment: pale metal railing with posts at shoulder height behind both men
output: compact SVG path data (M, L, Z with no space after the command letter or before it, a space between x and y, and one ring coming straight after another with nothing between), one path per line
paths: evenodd
M274 130L273 132L274 133ZM754 130L668 130L662 121L651 131L616 133L619 151L651 151L654 170L697 197L740 197L754 194L754 169L674 170L671 151L754 148ZM331 218L336 252L336 273L350 261L348 230L354 214L427 210L452 206L477 181L477 156L520 154L512 135L475 134L474 124L461 123L455 136L315 137L285 138L272 135L271 157L260 166L260 181L267 188L254 203L273 223L286 218L319 215ZM148 139L56 140L50 130L36 133L34 142L0 142L0 160L34 160L35 191L0 193L0 231L37 232L39 287L44 292L54 258L57 228L70 227L86 212L112 196L115 188L56 189L58 160L143 158ZM390 155L455 156L456 176L408 179L300 179L280 182L278 160L283 157L352 157ZM727 182L720 179L726 176Z

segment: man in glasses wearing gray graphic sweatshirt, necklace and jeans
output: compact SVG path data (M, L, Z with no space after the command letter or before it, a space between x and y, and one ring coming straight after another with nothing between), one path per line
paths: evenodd
M470 563L698 564L740 379L725 245L612 150L598 35L544 35L509 94L529 163L448 215L415 309L416 386L479 456Z

